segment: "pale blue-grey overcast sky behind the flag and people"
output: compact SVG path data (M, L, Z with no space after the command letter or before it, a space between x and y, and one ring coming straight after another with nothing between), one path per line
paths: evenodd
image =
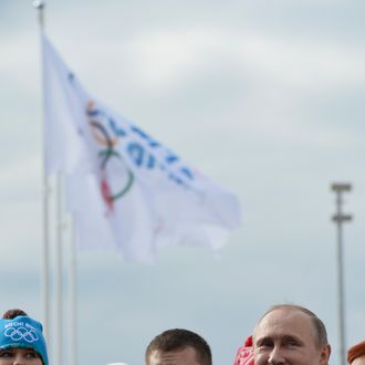
M354 215L344 229L347 346L364 340L364 15L359 0L48 1L49 38L86 90L237 194L243 217L219 260L198 248L161 250L152 267L80 252L77 364L143 364L170 327L198 332L216 365L232 364L260 314L289 301L323 319L340 365L333 181L354 186L344 205ZM0 1L0 310L41 319L31 1Z

